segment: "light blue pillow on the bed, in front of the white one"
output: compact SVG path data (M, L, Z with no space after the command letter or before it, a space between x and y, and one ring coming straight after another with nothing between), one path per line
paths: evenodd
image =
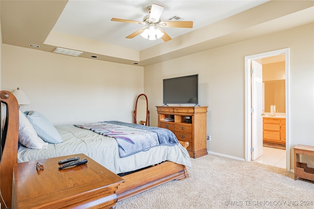
M25 111L24 113L35 129L38 137L52 144L63 142L58 131L45 116L36 111Z

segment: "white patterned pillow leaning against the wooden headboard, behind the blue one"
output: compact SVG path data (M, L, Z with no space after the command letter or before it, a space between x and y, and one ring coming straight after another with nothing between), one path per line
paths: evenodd
M33 126L30 124L24 113L19 111L19 141L27 148L47 149L48 143L37 136Z

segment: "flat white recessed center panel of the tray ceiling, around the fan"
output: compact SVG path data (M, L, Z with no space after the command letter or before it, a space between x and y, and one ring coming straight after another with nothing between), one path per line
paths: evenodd
M193 21L193 28L164 28L171 38L183 35L237 13L258 6L268 0L69 0L53 31L84 37L116 46L143 50L163 43L149 41L140 35L125 37L143 27L134 23L119 23L111 18L143 21L152 3L164 6L162 21L179 16Z

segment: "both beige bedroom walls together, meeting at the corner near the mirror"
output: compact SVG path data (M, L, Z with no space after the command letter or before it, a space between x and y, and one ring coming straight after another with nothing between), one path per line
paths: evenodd
M157 126L162 79L198 73L200 105L209 106L208 149L244 159L244 57L289 47L292 158L294 145L314 145L313 37L312 23L147 66L144 72L138 66L2 45L1 89L20 87L32 102L22 110L37 110L55 125L131 122L136 96L144 90L151 126Z

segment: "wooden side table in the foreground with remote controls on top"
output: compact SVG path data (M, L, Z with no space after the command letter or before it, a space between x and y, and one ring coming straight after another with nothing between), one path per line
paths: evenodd
M79 157L87 164L59 170L58 161ZM36 163L44 170L37 171ZM12 209L114 208L124 180L84 154L17 163L13 169Z

